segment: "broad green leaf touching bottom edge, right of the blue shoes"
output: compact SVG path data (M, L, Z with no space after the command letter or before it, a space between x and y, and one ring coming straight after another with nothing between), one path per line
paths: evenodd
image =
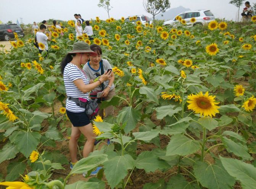
M109 186L113 189L128 174L128 170L134 167L134 159L128 154L116 156L104 164L104 173Z

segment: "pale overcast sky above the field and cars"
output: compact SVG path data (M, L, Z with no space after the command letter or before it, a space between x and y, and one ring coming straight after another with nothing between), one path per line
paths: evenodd
M229 4L230 0L170 0L171 8L209 9L216 18L235 19L238 8ZM250 4L256 0L249 0ZM74 14L81 14L83 19L107 19L108 14L103 8L98 8L99 0L0 0L0 20L3 23L23 18L24 24L42 22L47 19L68 21L74 19ZM245 1L244 1L245 2ZM109 15L115 19L122 16L144 14L152 17L143 8L143 0L110 0L113 6ZM245 6L242 5L242 8ZM241 9L240 9L241 12ZM172 18L170 18L172 19Z

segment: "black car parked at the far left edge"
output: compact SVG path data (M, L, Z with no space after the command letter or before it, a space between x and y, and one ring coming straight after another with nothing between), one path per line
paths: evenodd
M14 38L13 32L16 32L19 37L24 37L24 32L18 24L0 24L0 40L11 40Z

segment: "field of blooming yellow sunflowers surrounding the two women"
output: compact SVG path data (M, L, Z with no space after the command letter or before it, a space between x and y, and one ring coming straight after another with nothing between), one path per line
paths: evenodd
M93 40L63 22L49 28L48 55L34 38L1 46L0 187L256 189L256 17L192 28L179 20L173 28L97 17ZM100 45L113 66L116 95L101 107L115 113L93 121L102 140L70 171L60 62L79 40Z

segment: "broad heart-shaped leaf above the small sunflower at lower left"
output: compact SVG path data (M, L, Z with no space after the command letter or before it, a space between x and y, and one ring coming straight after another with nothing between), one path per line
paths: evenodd
M10 136L10 140L14 141L19 151L24 154L25 157L29 157L31 152L37 148L40 141L40 133L38 132L13 132Z

